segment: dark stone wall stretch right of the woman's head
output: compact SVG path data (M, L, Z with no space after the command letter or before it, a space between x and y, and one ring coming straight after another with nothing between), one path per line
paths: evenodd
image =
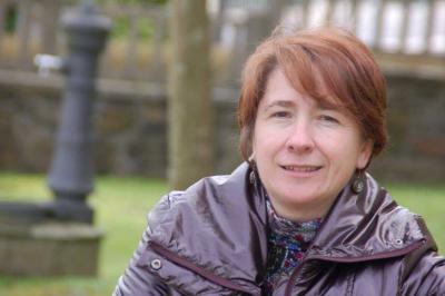
M388 76L387 151L373 170L380 178L445 181L444 79Z

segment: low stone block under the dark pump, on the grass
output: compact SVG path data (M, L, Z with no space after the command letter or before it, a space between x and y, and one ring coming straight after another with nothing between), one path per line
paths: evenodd
M0 274L96 276L101 237L86 224L0 221Z

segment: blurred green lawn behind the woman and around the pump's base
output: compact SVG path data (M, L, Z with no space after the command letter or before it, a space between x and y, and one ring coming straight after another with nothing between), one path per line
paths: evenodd
M445 185L390 185L400 205L423 215L441 249L445 248L443 215ZM146 225L146 214L167 191L164 180L100 177L89 198L96 225L105 230L98 278L0 278L0 295L102 296L110 295ZM0 172L0 200L48 200L42 175ZM443 253L443 251L442 251ZM0 263L1 264L1 263Z

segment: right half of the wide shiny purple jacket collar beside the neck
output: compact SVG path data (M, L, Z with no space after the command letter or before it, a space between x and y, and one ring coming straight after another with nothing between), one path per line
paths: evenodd
M360 194L352 190L352 181L345 186L306 257L335 262L396 257L419 247L427 236L419 217L398 206L366 174Z

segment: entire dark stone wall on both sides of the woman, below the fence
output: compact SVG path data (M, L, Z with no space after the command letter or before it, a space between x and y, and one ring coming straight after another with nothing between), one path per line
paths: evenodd
M392 180L445 181L443 79L397 75L387 81L390 145L372 170ZM144 93L101 88L93 120L98 172L166 177L166 95L161 88ZM57 83L0 83L0 169L48 171L60 96ZM216 171L229 172L239 162L238 91L220 89L215 97Z

